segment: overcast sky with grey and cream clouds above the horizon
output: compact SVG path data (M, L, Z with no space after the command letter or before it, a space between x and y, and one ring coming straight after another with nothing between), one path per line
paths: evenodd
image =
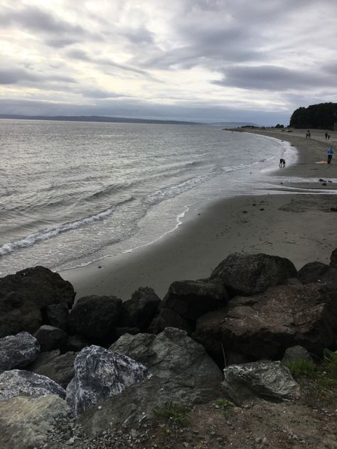
M337 102L337 0L0 0L0 113L289 124Z

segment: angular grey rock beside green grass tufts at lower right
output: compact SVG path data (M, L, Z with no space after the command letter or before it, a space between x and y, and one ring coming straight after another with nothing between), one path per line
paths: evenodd
M223 374L223 390L235 404L242 405L256 398L284 401L299 397L299 386L281 362L266 360L231 365Z

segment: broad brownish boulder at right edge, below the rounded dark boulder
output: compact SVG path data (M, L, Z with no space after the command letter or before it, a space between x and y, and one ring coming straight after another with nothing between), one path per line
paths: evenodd
M335 342L337 295L324 286L276 286L256 296L237 296L200 317L193 338L217 359L235 351L250 361L279 359L287 347L321 355Z

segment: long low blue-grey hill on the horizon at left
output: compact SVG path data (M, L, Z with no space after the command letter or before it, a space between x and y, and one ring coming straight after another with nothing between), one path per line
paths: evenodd
M105 123L149 123L149 124L171 124L171 125L200 125L196 121L176 121L176 120L152 120L152 119L127 119L125 117L103 117L99 115L14 115L0 114L0 119L16 119L16 120L54 120L54 121L102 121Z

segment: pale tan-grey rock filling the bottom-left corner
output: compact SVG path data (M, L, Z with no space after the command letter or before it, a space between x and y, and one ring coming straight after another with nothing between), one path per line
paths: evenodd
M66 419L67 403L55 394L43 397L16 396L0 402L1 449L42 448Z

